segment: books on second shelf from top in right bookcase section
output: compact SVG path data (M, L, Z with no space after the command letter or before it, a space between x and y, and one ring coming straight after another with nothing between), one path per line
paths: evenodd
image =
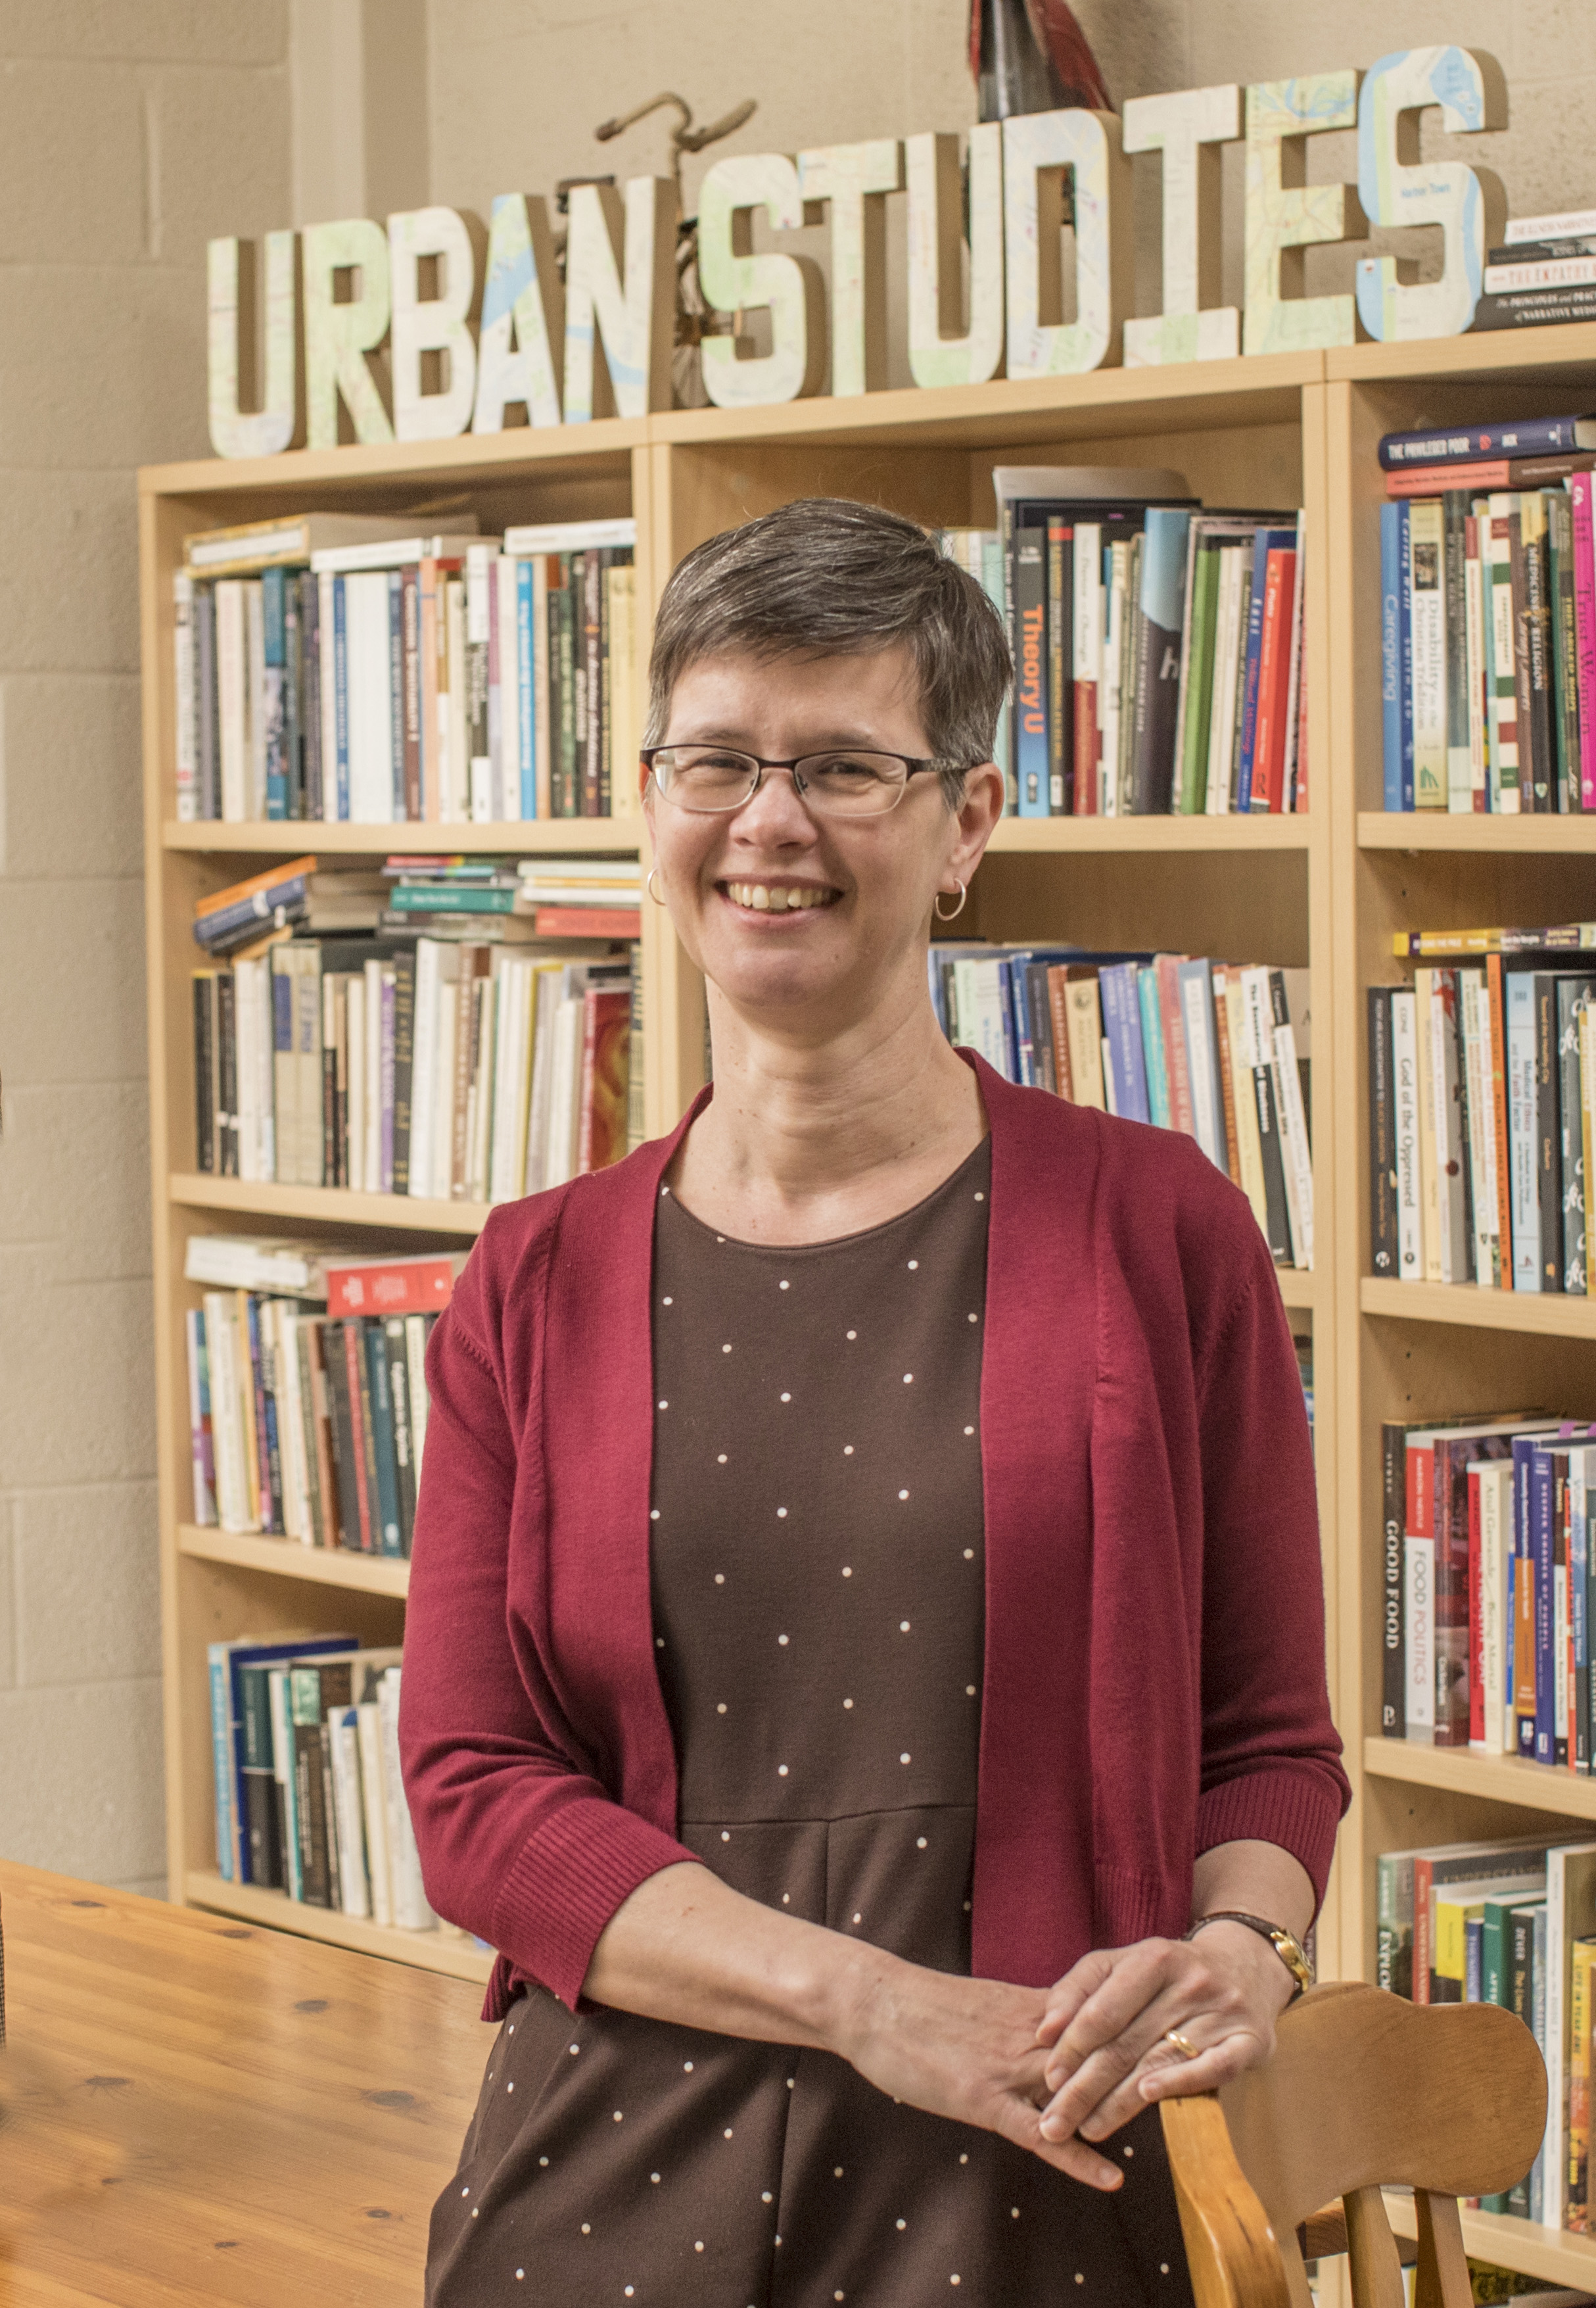
M1368 988L1372 1272L1589 1295L1596 923L1395 944L1476 958Z

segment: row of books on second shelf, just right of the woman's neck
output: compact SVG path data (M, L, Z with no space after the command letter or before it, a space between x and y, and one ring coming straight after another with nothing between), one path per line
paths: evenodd
M1305 969L939 942L929 981L950 1041L1010 1082L1185 1131L1243 1189L1275 1260L1312 1267Z

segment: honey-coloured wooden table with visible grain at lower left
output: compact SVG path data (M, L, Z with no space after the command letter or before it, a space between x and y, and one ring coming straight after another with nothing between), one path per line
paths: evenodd
M468 1980L0 1863L2 2308L401 2308L491 2029Z

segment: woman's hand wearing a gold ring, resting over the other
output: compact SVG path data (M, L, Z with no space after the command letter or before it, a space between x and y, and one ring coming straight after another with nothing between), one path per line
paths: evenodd
M1292 1973L1257 1932L1211 1923L1197 1939L1142 1939L1084 1955L1047 1994L1042 2142L1107 2140L1151 2100L1215 2091L1275 2047ZM1165 2040L1174 2029L1197 2050ZM1068 2167L1066 2167L1068 2170Z

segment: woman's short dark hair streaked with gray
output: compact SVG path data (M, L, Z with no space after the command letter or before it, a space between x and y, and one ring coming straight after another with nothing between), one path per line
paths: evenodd
M1012 662L980 584L916 522L849 496L800 496L697 545L660 595L648 660L657 745L690 665L717 655L865 658L906 644L950 805L989 762Z

